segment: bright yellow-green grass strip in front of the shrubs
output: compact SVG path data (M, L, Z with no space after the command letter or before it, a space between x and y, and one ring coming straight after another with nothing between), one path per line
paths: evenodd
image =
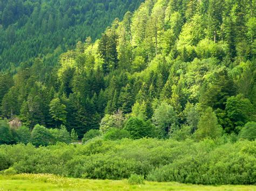
M51 174L0 175L0 190L256 190L256 186L203 186L177 182L129 185L127 180L88 180Z

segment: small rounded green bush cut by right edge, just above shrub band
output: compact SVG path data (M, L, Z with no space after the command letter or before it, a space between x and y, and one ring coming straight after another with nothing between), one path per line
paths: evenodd
M239 132L239 138L254 140L256 139L256 122L248 122Z

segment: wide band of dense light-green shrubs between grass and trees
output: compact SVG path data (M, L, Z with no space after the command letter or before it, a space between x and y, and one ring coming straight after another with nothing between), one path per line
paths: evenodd
M0 173L51 173L74 178L125 179L204 185L255 184L255 141L176 142L172 139L95 139L85 145L35 148L0 145Z

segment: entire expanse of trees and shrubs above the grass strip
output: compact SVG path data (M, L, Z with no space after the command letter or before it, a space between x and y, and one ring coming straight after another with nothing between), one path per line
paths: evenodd
M41 10L6 23L0 4L0 34L16 27L17 38L28 35L28 23L56 31L33 34L44 42L33 55L32 34L28 48L16 41L28 55L15 49L12 61L6 47L16 45L0 35L0 171L254 185L256 1L117 2L121 8L111 1L100 9L112 22L102 31L109 23L80 5L69 12L60 1L40 1ZM64 18L55 6L71 14L68 28L55 29ZM48 16L33 17L44 9ZM57 19L54 29L49 19L44 26L48 17Z

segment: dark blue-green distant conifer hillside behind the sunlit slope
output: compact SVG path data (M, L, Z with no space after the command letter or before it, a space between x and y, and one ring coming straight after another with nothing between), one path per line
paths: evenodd
M60 53L86 37L92 40L116 17L137 9L142 0L1 0L0 70L16 72L39 57L56 65Z

